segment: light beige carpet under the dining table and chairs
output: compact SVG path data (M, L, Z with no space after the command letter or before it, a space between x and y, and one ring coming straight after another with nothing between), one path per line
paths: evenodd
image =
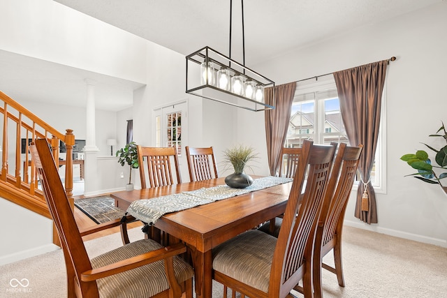
M131 240L142 238L140 228L129 234ZM119 234L85 242L91 257L120 245ZM346 288L340 288L336 276L323 270L324 297L447 297L446 248L350 227L344 228L343 248ZM325 261L332 261L332 253ZM17 285L13 288L13 278L27 278L29 285L22 288L13 281ZM0 297L66 297L62 252L1 266ZM213 297L222 297L219 283L213 284Z

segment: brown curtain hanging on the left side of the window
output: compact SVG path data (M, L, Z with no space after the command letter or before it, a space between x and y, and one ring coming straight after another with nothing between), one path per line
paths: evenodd
M286 141L295 89L296 82L265 89L265 103L274 105L274 109L265 111L267 156L272 176L278 174L279 163L281 163L281 149Z

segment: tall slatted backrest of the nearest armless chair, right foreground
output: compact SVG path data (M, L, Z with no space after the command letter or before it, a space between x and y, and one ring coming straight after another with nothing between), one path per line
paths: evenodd
M336 146L303 142L286 211L279 230L269 294L286 297L300 279L312 279L312 247ZM305 179L307 181L305 183ZM305 192L302 193L302 187ZM300 201L300 197L302 200Z

